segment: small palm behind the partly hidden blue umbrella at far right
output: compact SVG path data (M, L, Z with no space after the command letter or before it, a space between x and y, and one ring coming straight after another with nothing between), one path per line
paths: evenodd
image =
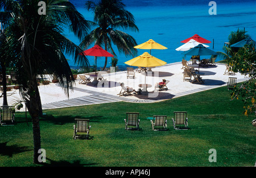
M225 61L229 60L232 58L233 54L238 51L237 48L231 47L231 45L246 39L249 37L249 35L246 34L246 31L244 29L237 29L237 31L232 31L229 36L228 36L228 44L223 47L224 52L217 52L218 55L221 58L224 58Z

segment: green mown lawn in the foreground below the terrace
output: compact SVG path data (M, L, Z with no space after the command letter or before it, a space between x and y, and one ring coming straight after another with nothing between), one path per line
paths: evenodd
M244 116L226 87L158 103L109 103L52 109L40 120L43 166L254 166L255 116ZM173 112L187 111L189 130L174 130ZM140 130L125 130L126 112L140 113ZM169 130L151 130L153 115L167 115ZM92 139L73 136L75 118L89 118ZM16 113L14 126L0 127L0 166L32 163L32 124ZM217 162L210 163L210 149Z

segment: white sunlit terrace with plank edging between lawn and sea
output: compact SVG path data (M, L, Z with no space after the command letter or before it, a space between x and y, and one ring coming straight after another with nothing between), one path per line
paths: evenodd
M198 70L198 65L193 66L195 70ZM151 103L226 86L229 77L236 77L237 82L247 80L247 78L240 73L236 73L235 75L224 74L226 66L222 63L216 63L216 66L200 66L199 71L200 77L204 80L203 84L191 83L183 80L184 70L181 69L181 67L181 62L154 67L152 68L151 73L147 73L146 77L144 71L139 73L135 70L137 67L134 67L135 78L127 78L127 71L118 71L115 73L101 71L104 80L101 80L98 84L93 82L80 84L80 78L78 76L73 86L73 90L69 91L69 98L65 95L63 88L61 88L58 83L50 83L47 85L40 84L39 91L42 107L43 109L53 109L117 101ZM90 77L89 74L84 75L88 78ZM92 77L90 77L90 79L93 81ZM162 79L170 81L167 84L168 90L155 90L155 84L161 82ZM193 80L193 76L191 79ZM47 80L51 81L52 78L49 77ZM139 84L147 83L150 84L150 86L147 87L148 92L142 92L140 95L133 94L119 96L118 94L122 90L120 83L122 82L125 86L132 87L135 91L138 91L139 88L141 88L139 87ZM143 90L143 88L141 89ZM10 95L11 93L13 94ZM10 95L7 96L9 105L13 105L18 99L21 99L18 90L12 89L11 91L8 91L7 94ZM0 99L1 103L3 102L2 100L3 98ZM25 107L20 109L20 111L25 111Z

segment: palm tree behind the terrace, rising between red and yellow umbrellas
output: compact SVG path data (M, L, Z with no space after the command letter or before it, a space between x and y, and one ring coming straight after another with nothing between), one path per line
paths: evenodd
M112 48L112 44L114 44L119 53L125 53L126 56L137 54L137 49L133 48L137 45L136 40L119 30L139 31L133 15L124 9L125 5L121 0L86 1L85 7L94 12L94 26L96 28L85 36L80 44L82 48L86 49L95 42L95 44L104 46L105 50L110 49L116 56ZM107 63L108 57L105 58L103 70Z

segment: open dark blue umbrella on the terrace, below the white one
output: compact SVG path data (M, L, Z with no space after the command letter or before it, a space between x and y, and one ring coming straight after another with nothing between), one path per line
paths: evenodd
M203 46L202 44L199 44L194 48L189 49L181 54L190 55L190 56L212 56L212 55L216 55L217 53L214 52L213 50L205 48L205 46ZM200 65L200 61L199 61L199 65ZM199 66L198 66L198 72L199 72Z

